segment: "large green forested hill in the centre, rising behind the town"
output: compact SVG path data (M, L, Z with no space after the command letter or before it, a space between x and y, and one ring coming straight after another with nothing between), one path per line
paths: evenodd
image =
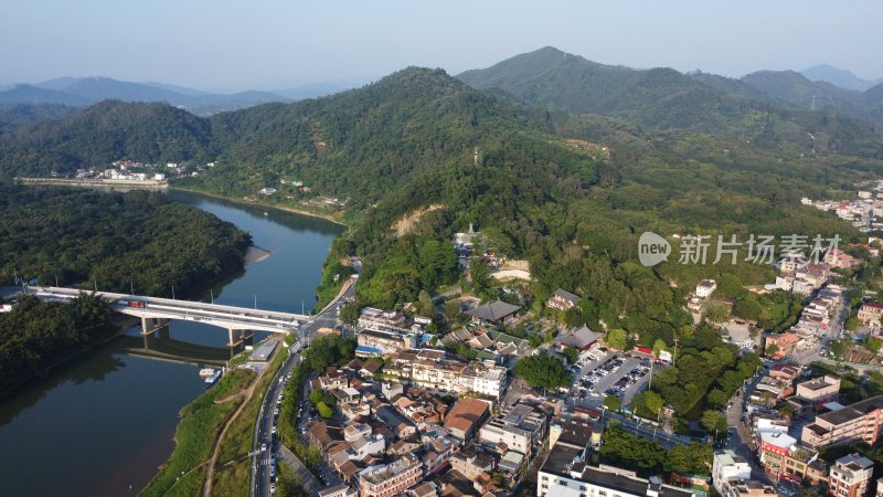
M304 199L291 184L297 180L310 194L344 201L352 230L330 261L363 256L359 292L368 304L414 302L422 289L454 283L445 248L455 231L475 223L499 254L530 262L538 300L556 287L575 289L598 303L609 326L670 337L689 321L677 288L702 277L742 288L769 282L770 269L646 268L636 262L642 231L742 239L837 232L858 240L849 224L799 202L843 194L881 170L877 160L844 154L868 129L826 118L826 129L839 135L817 133L818 145L807 144L799 121L762 117L757 135L766 139L759 142L726 134L647 134L627 120L531 107L444 71L412 67L331 97L211 119L105 103L20 128L0 144L0 167L10 176L40 170L44 155L56 150L75 159L63 162L68 170L158 157L194 165L206 155L219 165L180 184L240 198L272 187L278 193L269 200L297 208ZM34 156L10 160L20 150ZM881 148L872 142L869 150ZM429 205L409 234L396 236L397 220Z

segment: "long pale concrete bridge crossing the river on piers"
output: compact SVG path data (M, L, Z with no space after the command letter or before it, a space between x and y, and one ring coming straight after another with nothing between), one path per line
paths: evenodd
M44 300L66 302L83 292L76 288L29 286L25 294ZM175 300L171 298L146 297L141 295L97 292L111 304L111 309L141 318L141 334L149 335L168 326L171 319L183 319L225 328L230 334L227 345L235 346L254 335L254 331L290 334L310 316L279 313L276 310L253 309L248 307L224 306L204 302Z

